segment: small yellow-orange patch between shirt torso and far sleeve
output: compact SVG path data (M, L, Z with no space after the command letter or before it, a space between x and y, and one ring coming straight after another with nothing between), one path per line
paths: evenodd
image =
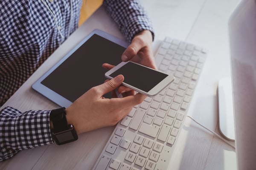
M79 18L78 26L81 26L91 14L93 14L96 9L98 9L101 5L103 0L82 0L82 7L81 7L81 14Z

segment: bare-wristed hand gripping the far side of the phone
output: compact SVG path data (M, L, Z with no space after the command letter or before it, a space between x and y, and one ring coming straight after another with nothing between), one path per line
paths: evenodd
M122 54L122 61L133 61L157 69L152 51L152 34L148 30L136 34L131 44Z

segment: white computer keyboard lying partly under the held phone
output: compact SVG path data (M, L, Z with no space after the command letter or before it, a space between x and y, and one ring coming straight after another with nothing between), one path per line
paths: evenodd
M187 42L161 42L157 67L175 81L116 125L93 170L167 170L206 56Z

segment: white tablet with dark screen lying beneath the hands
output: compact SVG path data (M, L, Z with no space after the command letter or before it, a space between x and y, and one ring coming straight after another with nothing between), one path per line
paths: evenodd
M117 65L128 43L94 30L40 77L32 88L61 107L70 106L90 88L105 81L103 63ZM106 94L106 98L111 95Z

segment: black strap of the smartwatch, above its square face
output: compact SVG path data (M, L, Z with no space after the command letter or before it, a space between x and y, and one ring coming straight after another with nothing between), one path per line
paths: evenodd
M53 125L53 133L58 133L69 129L65 108L52 110L50 113L50 120L52 121Z

